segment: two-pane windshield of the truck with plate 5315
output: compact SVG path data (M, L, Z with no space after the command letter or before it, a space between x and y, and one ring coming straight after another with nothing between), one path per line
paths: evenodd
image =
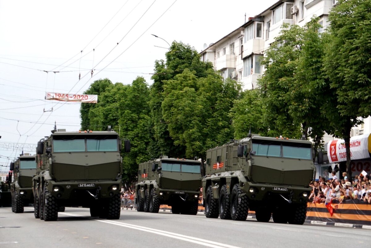
M116 152L118 151L117 136L55 136L53 137L53 150L54 152Z

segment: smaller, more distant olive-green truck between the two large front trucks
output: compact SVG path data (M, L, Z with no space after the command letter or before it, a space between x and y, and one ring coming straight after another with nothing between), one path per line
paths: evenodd
M161 204L173 214L196 215L201 191L201 162L162 156L139 164L135 184L137 211L158 213Z

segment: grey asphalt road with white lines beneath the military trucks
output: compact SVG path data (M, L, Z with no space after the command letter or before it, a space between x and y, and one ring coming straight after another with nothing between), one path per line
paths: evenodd
M118 220L91 218L88 208L66 208L52 222L0 208L0 247L369 247L370 230L208 219L122 210Z

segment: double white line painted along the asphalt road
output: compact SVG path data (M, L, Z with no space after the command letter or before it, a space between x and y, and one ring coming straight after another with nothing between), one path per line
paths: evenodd
M201 238L191 237L191 236L187 236L187 235L183 235L183 234L177 234L175 232L167 232L167 231L163 231L163 230L160 230L160 229L154 229L154 228L149 228L149 227L145 227L145 226L138 226L138 225L122 223L122 222L119 222L119 221L104 220L104 219L93 219L93 218L90 218L90 217L87 217L87 216L69 214L69 213L66 213L66 212L60 212L58 214L70 215L70 216L79 216L79 217L88 218L88 219L92 219L92 220L95 220L95 221L99 221L99 222L103 222L103 223L107 223L107 224L111 224L111 225L118 225L118 226L122 226L122 227L126 227L126 228L136 229L136 230L139 230L139 231L151 232L151 233L154 233L154 234L157 234L157 235L162 235L162 236L166 236L166 237L170 237L170 238L180 239L180 240L183 240L183 241L187 241L187 242L191 242L191 243L199 244L199 245L204 245L204 246L207 246L207 247L237 248L236 246L233 246L233 245L227 245L227 244L223 244L223 243L219 243L219 242L210 241L210 240L207 240L207 239L201 239Z

